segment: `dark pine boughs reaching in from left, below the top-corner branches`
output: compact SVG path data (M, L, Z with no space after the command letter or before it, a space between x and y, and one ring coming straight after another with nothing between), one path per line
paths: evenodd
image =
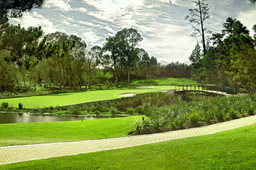
M65 53L75 46L75 41L63 41L61 45L46 42L46 37L41 41L43 30L41 27L28 27L27 29L18 26L9 26L4 29L4 34L0 36L0 50L11 51L10 57L6 61L16 62L19 66L25 64L26 68L34 65L33 58L42 60L51 55L63 57Z

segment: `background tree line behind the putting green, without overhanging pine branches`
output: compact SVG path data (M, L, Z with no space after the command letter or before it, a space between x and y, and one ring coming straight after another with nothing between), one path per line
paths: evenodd
M135 29L123 29L122 31ZM122 34L117 32L116 36ZM125 36L125 35L122 35ZM132 35L133 36L133 35ZM123 38L123 37L122 37ZM45 35L44 39L51 44L75 41L75 46L65 55L51 54L40 60L31 56L31 63L19 64L9 59L11 51L2 50L0 61L0 90L25 92L29 90L87 90L99 87L118 87L121 80L146 79L155 77L190 77L190 66L172 62L166 66L157 63L154 56L138 47L124 45L122 38L108 37L102 48L90 46L76 35L55 32ZM131 43L132 44L132 43ZM128 47L127 47L128 46ZM130 56L129 56L130 55ZM112 75L107 78L105 74ZM97 87L96 87L97 86Z

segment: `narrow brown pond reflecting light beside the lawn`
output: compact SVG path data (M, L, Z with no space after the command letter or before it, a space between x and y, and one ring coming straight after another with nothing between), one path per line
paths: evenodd
M74 116L74 115L54 115L54 114L17 114L0 113L0 124L2 123L28 123L28 122L57 122L75 120L94 120L113 117L126 117L126 115L115 116Z

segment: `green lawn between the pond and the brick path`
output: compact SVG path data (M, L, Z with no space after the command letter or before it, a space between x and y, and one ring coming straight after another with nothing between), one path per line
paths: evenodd
M139 119L142 116L0 124L0 147L124 137Z

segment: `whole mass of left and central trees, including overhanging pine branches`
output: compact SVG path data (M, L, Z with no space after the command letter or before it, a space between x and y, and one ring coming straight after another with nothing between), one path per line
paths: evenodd
M143 38L134 28L109 36L100 47L76 35L44 36L41 27L9 24L10 18L21 18L44 2L0 1L0 91L87 90L113 83L118 87L120 80L128 80L129 85L131 78L190 77L190 66L162 66L139 48Z

